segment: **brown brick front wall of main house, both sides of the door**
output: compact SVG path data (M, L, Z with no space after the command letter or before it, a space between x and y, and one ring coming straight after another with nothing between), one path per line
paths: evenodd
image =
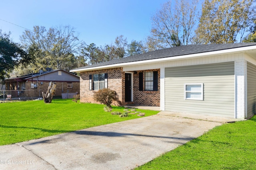
M146 71L158 71L158 91L139 91L139 72ZM93 99L93 94L97 91L89 90L89 75L103 73L108 73L108 88L115 90L121 104L125 105L125 72L122 71L122 68L80 72L80 102L97 103ZM133 74L133 96L134 104L160 106L160 69L140 70L137 71L137 74Z

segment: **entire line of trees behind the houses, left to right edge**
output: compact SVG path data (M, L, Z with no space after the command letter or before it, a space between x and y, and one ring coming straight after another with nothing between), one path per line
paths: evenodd
M147 51L168 47L209 44L256 42L255 0L169 0L152 16L152 28L146 39L132 40L123 35L114 43L96 46L79 40L79 35L71 26L34 26L21 35L21 45L8 39L10 34L1 33L1 41L9 41L12 46L0 44L13 53L10 67L15 75L38 72L46 67L70 70L87 64L96 64L120 59ZM202 7L202 8L200 8ZM15 46L14 45L14 46ZM18 54L18 55L16 55ZM8 65L0 53L0 63ZM26 61L26 62L24 62ZM3 69L0 70L4 74Z

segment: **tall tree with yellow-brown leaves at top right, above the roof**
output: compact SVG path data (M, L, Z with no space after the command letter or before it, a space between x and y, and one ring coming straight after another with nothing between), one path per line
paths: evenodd
M241 42L252 21L253 0L205 0L196 43Z

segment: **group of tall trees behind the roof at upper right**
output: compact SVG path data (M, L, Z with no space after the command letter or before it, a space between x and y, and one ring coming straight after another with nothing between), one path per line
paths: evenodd
M169 0L152 17L146 46L154 51L188 44L251 42L254 4L255 0Z

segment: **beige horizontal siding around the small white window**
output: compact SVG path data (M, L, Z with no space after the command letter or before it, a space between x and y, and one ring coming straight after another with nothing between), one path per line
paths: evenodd
M203 83L203 100L185 100L184 84ZM165 110L234 117L234 62L165 68Z

